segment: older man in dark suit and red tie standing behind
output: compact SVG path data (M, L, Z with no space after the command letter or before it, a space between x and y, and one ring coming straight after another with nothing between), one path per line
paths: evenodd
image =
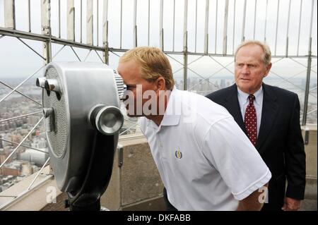
M269 47L244 42L235 52L235 85L206 97L228 109L269 166L272 178L263 210L298 210L305 193L300 102L295 93L263 83L270 69Z

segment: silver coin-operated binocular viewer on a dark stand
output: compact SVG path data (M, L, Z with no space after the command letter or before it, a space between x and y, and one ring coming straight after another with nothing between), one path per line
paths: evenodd
M119 130L124 83L104 63L49 63L42 107L50 164L71 210L98 210L110 176Z

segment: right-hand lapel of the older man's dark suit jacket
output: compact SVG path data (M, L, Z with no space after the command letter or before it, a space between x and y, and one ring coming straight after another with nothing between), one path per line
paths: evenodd
M261 145L264 144L271 128L273 122L275 121L276 114L278 112L278 104L276 102L277 97L271 92L271 87L269 85L263 84L263 107L261 110L261 126L259 128L259 136L257 138L256 148L261 152Z

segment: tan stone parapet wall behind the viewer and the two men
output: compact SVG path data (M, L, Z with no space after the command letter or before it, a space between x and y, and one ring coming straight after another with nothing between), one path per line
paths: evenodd
M305 128L302 133L305 136ZM309 142L305 145L305 152L307 185L302 210L317 210L317 126L310 127ZM48 168L44 173L49 173ZM46 174L40 176L40 180ZM2 192L1 195L22 193L28 188L35 175L25 178ZM63 203L67 196L57 188L57 203L47 203L49 194L47 188L52 187L56 188L56 183L53 178L50 178L27 195L0 210L68 210L64 209ZM1 197L0 200L3 203L10 198ZM119 139L112 178L107 191L101 197L101 205L110 210L165 210L163 183L153 162L148 142L142 135L135 137L130 135Z

